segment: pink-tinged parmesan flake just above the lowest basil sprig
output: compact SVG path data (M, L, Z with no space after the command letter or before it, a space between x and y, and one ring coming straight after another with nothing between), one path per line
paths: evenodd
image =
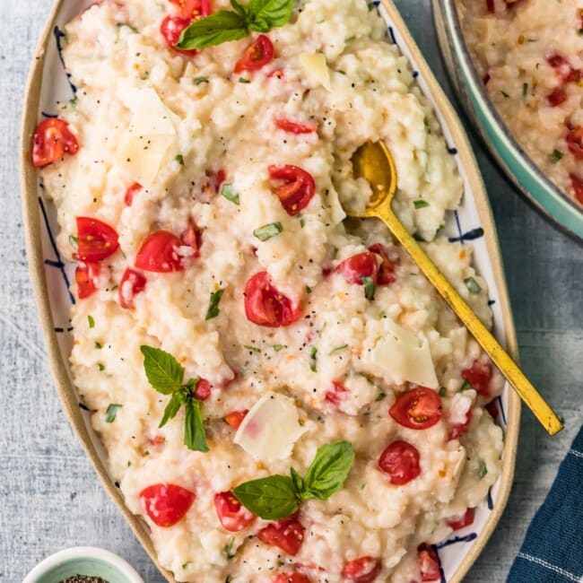
M267 393L249 410L233 441L257 460L283 459L306 431L291 397Z

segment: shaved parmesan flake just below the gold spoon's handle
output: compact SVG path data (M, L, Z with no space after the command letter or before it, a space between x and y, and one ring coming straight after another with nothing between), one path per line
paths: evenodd
M431 351L425 337L418 337L389 318L383 320L387 335L363 361L373 374L393 382L409 381L423 387L439 387Z

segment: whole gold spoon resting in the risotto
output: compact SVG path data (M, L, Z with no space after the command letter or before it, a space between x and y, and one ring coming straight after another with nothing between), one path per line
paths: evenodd
M535 413L536 419L551 435L562 429L562 423L553 412L553 409L544 402L544 399L533 387L526 376L518 368L509 353L492 336L488 328L483 325L466 301L456 292L454 287L439 272L437 266L427 256L425 251L417 244L403 223L396 218L391 209L391 200L396 192L396 168L393 156L388 151L387 145L381 142L367 142L352 155L352 170L356 178L365 178L372 188L372 196L369 205L362 213L346 211L349 216L359 218L376 217L384 222L396 239L413 257L413 261L419 265L423 274L435 286L449 307L456 312L457 317L466 325L467 329L490 356L500 372L509 380L516 389L526 406Z

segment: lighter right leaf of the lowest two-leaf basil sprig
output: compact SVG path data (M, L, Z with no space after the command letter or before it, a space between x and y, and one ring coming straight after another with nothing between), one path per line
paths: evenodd
M353 461L354 448L348 441L335 441L320 446L304 476L301 499L327 500L330 498L343 487Z

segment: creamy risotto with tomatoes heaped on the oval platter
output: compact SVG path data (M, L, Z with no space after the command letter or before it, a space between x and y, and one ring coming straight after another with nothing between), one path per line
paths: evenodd
M431 544L500 474L502 382L387 230L343 209L370 196L352 152L384 140L396 213L491 325L471 246L439 234L455 159L362 0L178 50L220 9L105 0L66 26L78 91L33 161L77 261L74 382L178 581L439 580Z

